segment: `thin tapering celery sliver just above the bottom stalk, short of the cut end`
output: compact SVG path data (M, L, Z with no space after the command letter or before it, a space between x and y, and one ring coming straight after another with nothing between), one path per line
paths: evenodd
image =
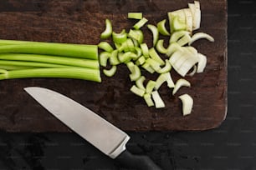
M18 70L18 69L27 69L33 67L74 67L53 63L45 62L20 62L20 61L10 61L10 60L0 60L0 68L6 70Z

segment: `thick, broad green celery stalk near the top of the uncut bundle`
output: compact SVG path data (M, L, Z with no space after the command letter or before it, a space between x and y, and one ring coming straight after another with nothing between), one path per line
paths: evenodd
M0 53L33 53L61 57L83 57L98 60L98 46L84 44L28 42L0 46Z

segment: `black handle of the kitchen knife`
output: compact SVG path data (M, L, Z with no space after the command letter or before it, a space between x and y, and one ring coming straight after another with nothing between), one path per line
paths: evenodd
M120 153L115 160L124 165L125 168L131 168L132 170L161 170L161 168L159 168L151 158L133 155L127 150Z

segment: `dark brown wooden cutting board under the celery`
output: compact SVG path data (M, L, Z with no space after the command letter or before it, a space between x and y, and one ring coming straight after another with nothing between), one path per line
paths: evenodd
M149 23L167 18L167 12L187 7L188 0L37 0L0 2L0 38L42 42L98 44L100 32L109 18L115 32L128 31L135 20L127 13L142 12ZM192 87L182 87L177 95L163 85L159 92L166 107L147 107L141 97L130 92L132 82L125 66L102 82L64 78L28 78L0 81L0 128L7 132L71 132L35 102L23 87L47 87L73 98L125 131L184 131L217 128L227 113L227 2L201 0L202 23L197 32L207 32L215 42L193 43L207 56L205 72L186 77ZM151 32L143 28L145 41ZM167 41L167 38L166 38ZM175 71L173 80L180 78ZM182 116L178 96L194 99L192 113ZM54 103L53 103L54 104ZM72 114L72 112L70 112Z

